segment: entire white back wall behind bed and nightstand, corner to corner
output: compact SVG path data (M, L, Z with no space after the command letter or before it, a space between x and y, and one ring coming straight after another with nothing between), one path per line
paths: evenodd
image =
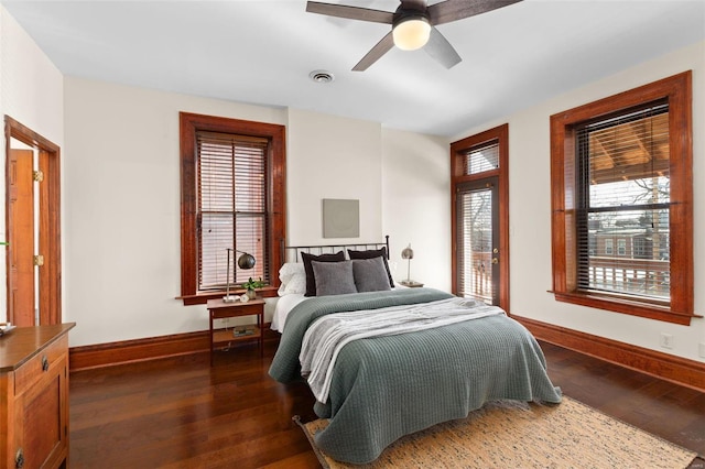
M178 111L288 126L290 244L348 241L323 238L323 198L360 200L360 238L349 241L378 241L386 233L386 131L379 123L73 77L65 78L65 102L64 297L65 319L77 323L70 334L72 347L208 327L205 306L186 307L175 299L181 285ZM423 183L416 181L416 189L442 190L427 197L425 206L431 212L447 211L447 187L443 185L446 150L424 135L405 138L412 139L416 149L410 152L400 143L388 145L386 170L392 174L406 171L409 160L397 153L412 153L415 161L424 163L415 178L424 173L434 175ZM435 152L440 163L420 149ZM427 221L413 210L400 211L397 220L401 217L410 223L404 231L414 230L414 219L422 226ZM445 230L447 221L440 221L416 232ZM401 250L401 241L395 246ZM435 248L444 249L442 243ZM423 260L414 265L423 265ZM437 277L443 284L443 275ZM267 320L272 303L269 301L265 310Z

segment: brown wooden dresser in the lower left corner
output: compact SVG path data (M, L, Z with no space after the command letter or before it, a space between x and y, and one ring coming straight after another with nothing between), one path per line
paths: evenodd
M68 467L68 330L18 327L0 337L0 468Z

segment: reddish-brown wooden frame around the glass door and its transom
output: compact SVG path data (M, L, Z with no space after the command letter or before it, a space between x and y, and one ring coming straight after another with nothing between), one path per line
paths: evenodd
M498 142L499 170L464 175L463 153L484 143ZM458 292L457 275L457 214L456 214L456 186L458 184L497 176L499 179L499 250L502 253L502 262L499 264L499 307L509 314L509 124L502 124L486 130L475 135L467 137L451 144L451 275L453 293Z

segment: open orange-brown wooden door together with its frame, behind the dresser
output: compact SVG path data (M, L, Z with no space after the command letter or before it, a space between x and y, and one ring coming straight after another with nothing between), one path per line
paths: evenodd
M59 148L6 116L7 320L59 324Z

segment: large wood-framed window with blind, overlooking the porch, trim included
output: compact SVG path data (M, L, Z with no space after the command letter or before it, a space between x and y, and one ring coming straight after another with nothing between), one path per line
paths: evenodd
M551 117L557 301L693 317L691 73Z

